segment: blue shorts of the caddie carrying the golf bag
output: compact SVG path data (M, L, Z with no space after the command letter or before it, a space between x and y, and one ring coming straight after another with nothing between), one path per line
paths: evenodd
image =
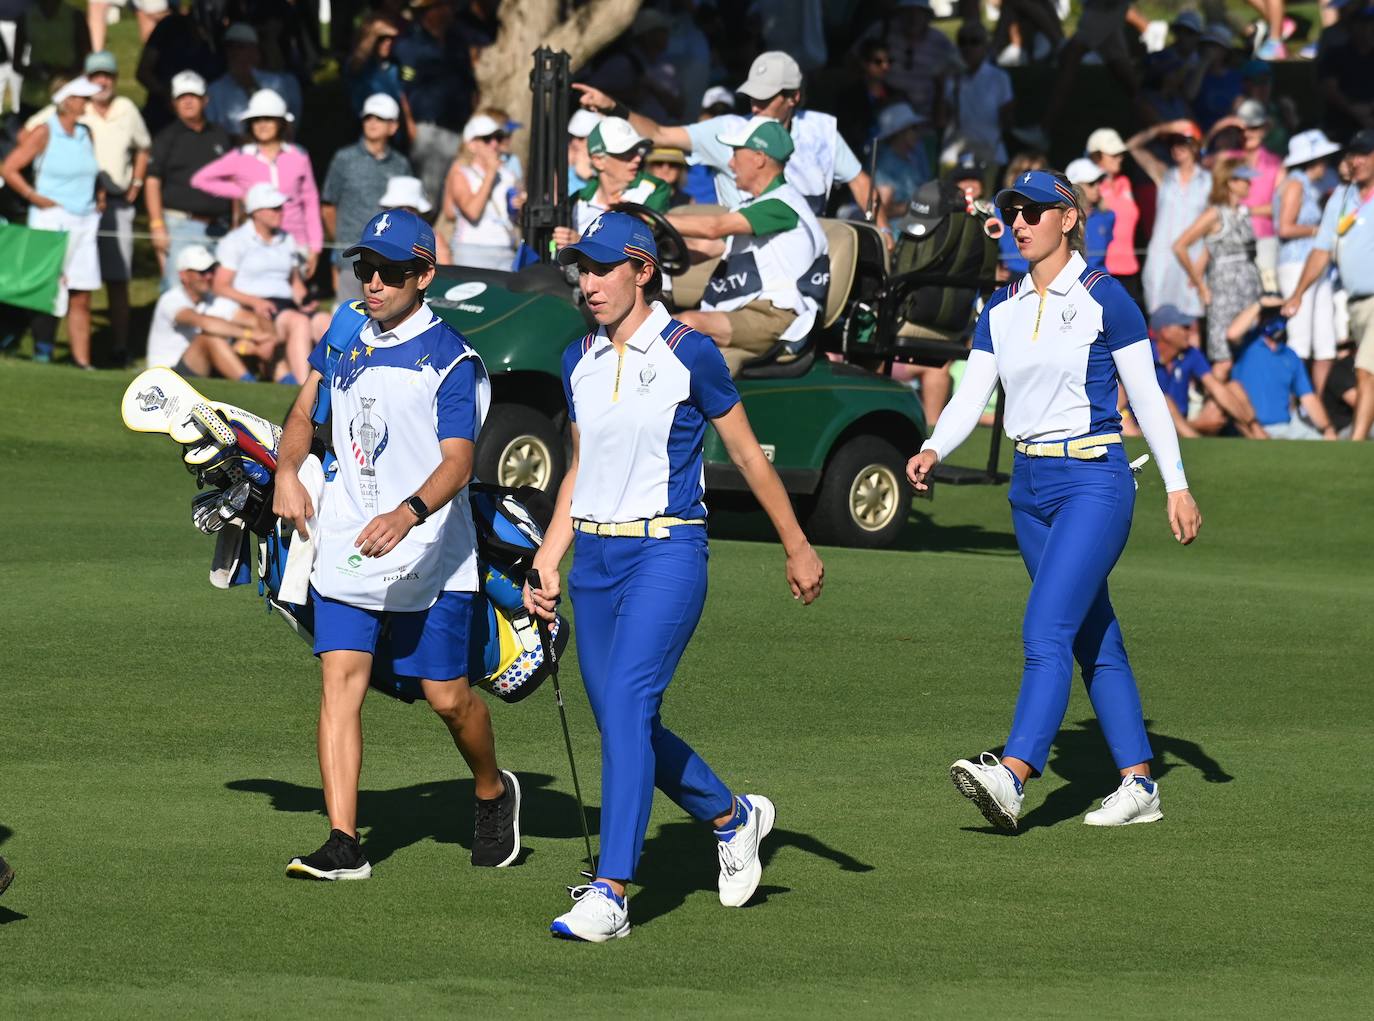
M467 676L471 592L440 592L431 607L412 613L364 610L328 599L313 585L311 599L316 655L344 650L375 654L385 628L392 672L397 676L425 680Z

